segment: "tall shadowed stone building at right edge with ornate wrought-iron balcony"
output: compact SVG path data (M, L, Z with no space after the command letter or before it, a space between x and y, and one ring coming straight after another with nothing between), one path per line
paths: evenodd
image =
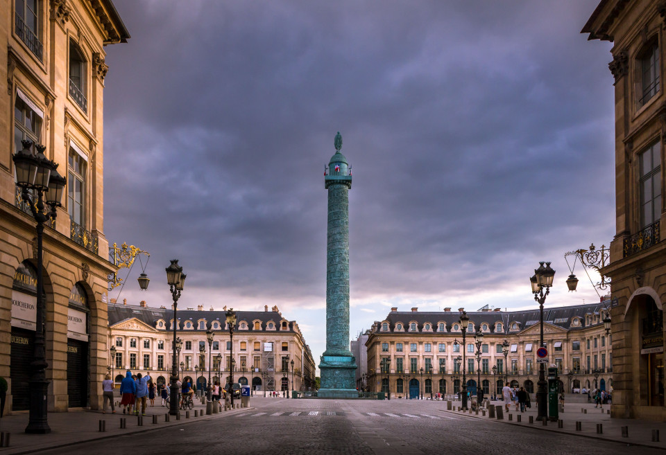
M611 416L666 420L664 211L666 2L602 0L582 33L613 43L615 238L610 277L615 393ZM610 83L610 78L609 83ZM609 156L609 159L610 156Z

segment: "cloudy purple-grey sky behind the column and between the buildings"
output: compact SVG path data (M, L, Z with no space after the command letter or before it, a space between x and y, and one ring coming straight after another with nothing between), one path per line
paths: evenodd
M598 0L114 3L105 235L152 279L135 265L120 299L170 305L178 258L181 307L278 305L318 363L340 131L352 338L392 306L535 305L539 260L547 305L598 301L579 265L564 282L566 251L615 233L610 44L580 33Z

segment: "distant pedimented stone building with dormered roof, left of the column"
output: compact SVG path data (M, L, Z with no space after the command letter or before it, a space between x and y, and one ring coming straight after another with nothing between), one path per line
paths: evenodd
M232 343L221 311L178 310L176 337L182 340L178 353L179 374L205 389L211 382L228 383L231 359L235 361L234 382L250 384L253 391L308 391L314 388L315 364L298 323L285 319L277 306L271 311L237 311ZM173 310L126 301L108 307L109 346L116 349L110 369L120 382L125 371L150 373L157 384L169 383L173 341ZM206 330L214 333L209 347ZM233 357L232 357L233 353ZM293 360L293 375L291 361ZM181 369L182 364L182 369ZM293 382L292 382L293 378Z

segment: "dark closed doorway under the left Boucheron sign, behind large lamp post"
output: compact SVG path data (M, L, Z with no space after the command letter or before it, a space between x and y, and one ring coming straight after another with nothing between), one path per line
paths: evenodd
M35 332L12 327L10 359L12 411L25 411L30 404L30 361L33 359Z

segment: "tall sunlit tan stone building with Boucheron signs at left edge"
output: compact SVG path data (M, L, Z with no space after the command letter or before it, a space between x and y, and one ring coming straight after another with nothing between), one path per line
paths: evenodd
M15 185L12 155L29 139L67 177L55 223L44 229L49 411L101 404L106 372L103 301L104 46L128 31L110 0L3 1L0 28L0 376L6 411L28 409L35 334L35 220ZM34 145L33 147L34 148Z

